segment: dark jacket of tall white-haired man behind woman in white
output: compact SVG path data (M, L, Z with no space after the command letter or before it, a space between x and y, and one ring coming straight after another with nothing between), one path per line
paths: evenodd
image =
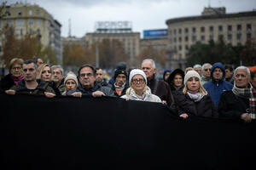
M160 97L161 100L166 100L167 105L171 106L173 102L172 91L167 82L157 80L155 77L148 81L148 87L151 93Z

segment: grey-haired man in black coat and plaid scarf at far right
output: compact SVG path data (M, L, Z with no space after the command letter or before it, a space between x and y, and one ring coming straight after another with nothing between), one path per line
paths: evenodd
M251 122L255 119L256 97L253 97L255 92L249 83L250 71L245 66L239 66L234 74L234 87L221 94L218 103L219 116Z

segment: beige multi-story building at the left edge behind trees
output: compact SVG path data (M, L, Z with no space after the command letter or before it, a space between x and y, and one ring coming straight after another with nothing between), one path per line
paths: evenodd
M5 16L0 18L0 29L3 26L14 26L17 37L26 34L38 36L43 46L50 46L55 51L57 61L62 64L61 24L38 5L14 3L5 6Z

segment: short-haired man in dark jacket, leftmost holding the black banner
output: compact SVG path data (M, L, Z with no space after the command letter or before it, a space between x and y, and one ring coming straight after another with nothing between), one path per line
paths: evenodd
M55 92L48 84L41 79L37 79L37 65L34 60L26 60L22 65L24 79L19 81L14 87L6 90L6 94L38 94L53 98Z

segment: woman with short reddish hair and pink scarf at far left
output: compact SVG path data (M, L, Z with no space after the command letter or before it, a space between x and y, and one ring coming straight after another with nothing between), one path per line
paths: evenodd
M2 91L9 90L24 77L22 76L23 59L14 58L9 62L9 74L2 78L0 88Z

